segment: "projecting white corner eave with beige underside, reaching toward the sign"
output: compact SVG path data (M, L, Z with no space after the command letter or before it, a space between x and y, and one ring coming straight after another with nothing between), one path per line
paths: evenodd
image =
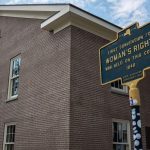
M114 40L117 36L116 33L121 30L121 28L107 21L70 5L45 20L41 24L41 28L56 33L69 25L79 27L110 41Z

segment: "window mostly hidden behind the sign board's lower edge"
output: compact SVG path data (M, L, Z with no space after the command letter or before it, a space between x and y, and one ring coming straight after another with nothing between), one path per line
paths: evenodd
M111 83L111 90L120 93L128 93L128 87L121 85L121 80L115 81Z

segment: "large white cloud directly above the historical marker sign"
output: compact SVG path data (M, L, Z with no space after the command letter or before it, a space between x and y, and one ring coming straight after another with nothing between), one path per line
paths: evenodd
M148 18L145 8L146 0L107 0L112 11L112 20L127 26L133 22L143 24Z

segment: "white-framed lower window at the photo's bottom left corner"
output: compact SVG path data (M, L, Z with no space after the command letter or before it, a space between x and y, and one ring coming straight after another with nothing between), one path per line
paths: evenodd
M16 130L15 124L5 125L3 150L14 150L15 130Z

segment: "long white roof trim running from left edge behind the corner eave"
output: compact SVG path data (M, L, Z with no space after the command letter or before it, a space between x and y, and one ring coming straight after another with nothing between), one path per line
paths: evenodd
M0 16L47 19L66 5L0 5Z

